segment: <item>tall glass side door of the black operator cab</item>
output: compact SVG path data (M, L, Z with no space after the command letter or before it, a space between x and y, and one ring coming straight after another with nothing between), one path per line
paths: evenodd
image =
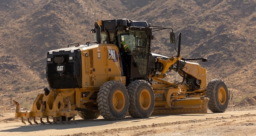
M124 36L124 41L129 46L131 52L124 50L123 44L121 43L121 36ZM123 31L118 34L118 47L123 58L123 63L129 65L130 69L128 71L131 71L131 78L143 78L144 75L147 77L150 47L148 41L148 35L145 31L141 30Z

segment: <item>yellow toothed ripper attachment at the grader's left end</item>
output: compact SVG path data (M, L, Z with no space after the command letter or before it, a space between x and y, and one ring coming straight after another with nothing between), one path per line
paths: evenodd
M26 124L24 117L27 118L29 124L31 119L33 119L35 124L35 117L40 117L41 124L45 124L42 118L46 118L47 123L52 124L49 121L49 117L53 117L53 123L57 124L57 121L63 123L63 118L67 120L68 118L73 118L74 123L75 116L78 114L77 110L74 110L75 106L71 105L71 101L67 101L68 97L71 97L75 93L75 90L59 92L57 97L54 91L50 91L49 94L38 94L37 98L33 103L31 111L20 111L19 102L13 100L16 105L15 118L21 118L22 123ZM70 124L70 123L69 123Z

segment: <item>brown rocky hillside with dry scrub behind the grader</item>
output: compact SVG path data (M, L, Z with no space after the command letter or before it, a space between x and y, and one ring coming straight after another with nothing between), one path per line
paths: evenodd
M207 57L198 63L207 68L208 81L222 78L236 98L255 94L255 10L256 0L1 1L0 103L10 104L10 98L31 103L31 96L48 86L47 51L92 41L94 22L116 18L182 32L182 57ZM154 53L176 54L168 30L153 34Z

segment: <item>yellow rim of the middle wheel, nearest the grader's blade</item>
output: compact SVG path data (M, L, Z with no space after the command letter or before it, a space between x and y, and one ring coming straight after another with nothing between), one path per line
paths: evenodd
M143 89L142 92L140 92L139 102L140 102L140 107L143 110L147 110L150 107L151 97L147 89Z

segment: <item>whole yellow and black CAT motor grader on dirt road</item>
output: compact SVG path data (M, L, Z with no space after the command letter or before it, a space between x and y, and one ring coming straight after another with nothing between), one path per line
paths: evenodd
M151 53L152 32L169 29L170 43L178 39L177 55ZM221 79L206 82L206 69L180 55L181 34L175 38L170 27L152 26L146 21L129 19L99 20L91 30L96 41L68 44L67 48L47 53L46 78L50 89L38 94L31 111L19 111L15 117L35 121L49 117L57 123L79 114L84 119L102 115L121 120L127 114L147 118L151 114L189 114L224 112L229 95ZM129 51L125 48L129 46ZM163 80L176 71L182 81ZM175 73L175 72L174 72ZM26 123L25 123L26 124Z

